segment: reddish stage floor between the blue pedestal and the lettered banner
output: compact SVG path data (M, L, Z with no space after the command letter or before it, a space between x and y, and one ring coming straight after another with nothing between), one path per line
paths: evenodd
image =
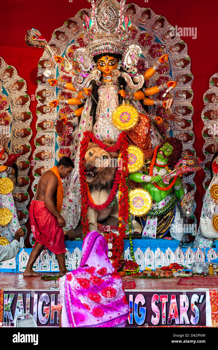
M47 275L53 275L52 273L47 273ZM205 278L198 277L199 278L199 285L178 285L179 277L174 278L163 278L163 279L138 279L130 276L125 276L122 278L123 281L125 281L125 286L128 285L127 282L135 281L136 287L135 291L137 290L190 290L190 289L199 289L201 288L201 279L205 281ZM217 287L214 287L214 283L210 284L210 281L213 279L213 277L207 277L208 284L205 286L204 283L204 289L218 289ZM213 281L214 282L214 281ZM57 287L59 286L58 281L56 281ZM131 283L132 285L132 283ZM203 285L203 283L202 283ZM0 289L4 290L49 290L50 287L55 287L55 281L42 281L39 277L23 277L22 273L0 273ZM128 290L128 289L126 289Z

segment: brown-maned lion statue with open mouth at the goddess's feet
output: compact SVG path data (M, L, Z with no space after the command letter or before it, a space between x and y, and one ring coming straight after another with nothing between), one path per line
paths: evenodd
M103 144L113 147L116 143L111 139L102 140ZM116 152L104 151L93 142L89 142L85 154L86 181L88 182L90 195L95 204L101 205L107 201L110 194L115 173L117 169ZM88 208L87 218L89 219L89 230L97 231L97 223L105 225L118 225L118 205L117 203L103 210ZM75 239L82 237L82 225L78 224L75 230L70 229L65 239Z

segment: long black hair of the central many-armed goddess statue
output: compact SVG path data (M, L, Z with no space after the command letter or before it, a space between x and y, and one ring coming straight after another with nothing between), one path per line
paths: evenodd
M117 58L117 61L119 62L122 58L122 55L119 55L119 54L111 54L110 52L106 52L105 54L99 54L99 55L96 55L93 57L93 60L94 62L97 64L97 61L98 59L104 57L104 56L112 56L114 58ZM120 68L120 71L123 72L123 68L121 67ZM100 81L102 80L103 78L103 74L101 74L101 78L100 78ZM133 82L134 83L134 82ZM123 85L123 90L125 90L125 87L127 85L125 79L123 77L118 77L118 84L119 84L119 88L121 90L121 85ZM135 84L135 83L134 83ZM99 86L96 84L95 80L93 79L90 83L91 85L91 94L92 96L95 98L96 102L98 103L98 88ZM146 85L144 84L143 85L144 87L146 87ZM142 90L142 89L140 89ZM97 103L95 102L94 98L91 97L91 101L92 101L92 106L91 106L91 110L90 110L90 116L93 116L93 125L95 125L95 122L96 122L96 109L97 109ZM119 98L120 99L120 104L122 102L122 99L121 97ZM142 106L143 106L143 100L141 101L142 102ZM143 106L144 110L147 111L147 108L145 108L147 106Z

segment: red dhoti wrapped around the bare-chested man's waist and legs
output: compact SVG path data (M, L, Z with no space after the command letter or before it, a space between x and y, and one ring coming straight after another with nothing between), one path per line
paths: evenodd
M39 242L54 254L65 253L63 229L43 201L31 202L29 219L36 240L34 246Z

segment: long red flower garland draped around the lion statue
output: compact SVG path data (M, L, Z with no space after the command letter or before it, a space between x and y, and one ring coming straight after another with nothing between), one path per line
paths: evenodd
M103 144L102 141L95 138L94 134L91 131L85 131L83 133L84 137L81 141L81 148L80 148L80 191L81 191L81 223L83 226L83 236L86 236L86 234L89 232L89 221L87 219L87 210L88 207L92 207L95 209L104 209L107 207L108 203L111 202L111 198L115 196L118 183L120 185L120 198L119 198L119 205L118 205L118 214L119 214L119 233L121 238L120 243L120 252L122 254L124 243L123 243L123 237L125 236L125 224L128 222L129 218L129 211L128 211L128 187L126 183L126 176L128 175L128 141L127 141L127 134L125 132L122 132L117 139L116 146L108 147L107 145ZM86 172L85 172L85 154L87 152L87 147L90 142L94 142L99 147L104 149L107 152L117 152L120 151L120 158L123 160L123 167L121 169L117 169L116 176L115 176L115 183L113 185L113 191L111 191L111 194L108 198L108 200L102 204L101 206L96 205L93 201L91 201L89 197L89 191L88 191L88 185L86 182ZM113 199L112 198L112 199Z

